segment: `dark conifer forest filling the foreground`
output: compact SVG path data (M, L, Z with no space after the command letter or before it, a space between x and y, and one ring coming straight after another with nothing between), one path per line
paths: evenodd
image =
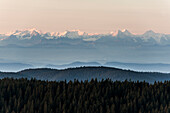
M170 82L0 80L0 113L170 113Z

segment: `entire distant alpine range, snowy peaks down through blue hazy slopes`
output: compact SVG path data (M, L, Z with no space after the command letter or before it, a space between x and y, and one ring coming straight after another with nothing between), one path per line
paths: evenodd
M0 59L24 64L68 62L130 62L170 64L170 35L152 30L135 35L128 30L91 34L79 30L41 32L16 30L0 35Z

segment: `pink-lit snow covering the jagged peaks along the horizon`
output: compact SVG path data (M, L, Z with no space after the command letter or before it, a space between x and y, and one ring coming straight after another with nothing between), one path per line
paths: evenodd
M9 37L11 35L16 36L18 39L31 39L33 36L38 36L38 37L44 37L46 39L55 39L59 37L67 37L71 39L82 38L83 40L86 41L95 41L103 36L117 37L117 38L138 37L138 38L142 38L142 40L145 41L148 41L149 39L152 38L158 43L161 42L161 40L170 39L170 35L155 33L152 30L146 31L142 35L136 35L130 33L127 29L117 30L106 34L99 34L99 33L86 33L80 30L67 30L65 32L41 32L36 28L32 28L32 29L16 30L15 32L7 33L3 36L3 38Z

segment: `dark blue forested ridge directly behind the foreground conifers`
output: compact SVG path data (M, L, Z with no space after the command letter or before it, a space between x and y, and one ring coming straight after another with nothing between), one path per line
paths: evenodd
M146 81L154 83L155 81L168 81L170 74L156 73L156 72L135 72L130 70L122 70L109 67L79 67L69 68L63 70L57 69L27 69L20 72L0 72L0 78L36 78L38 80L48 81L79 81L91 80L97 78L98 80L110 78L112 81Z

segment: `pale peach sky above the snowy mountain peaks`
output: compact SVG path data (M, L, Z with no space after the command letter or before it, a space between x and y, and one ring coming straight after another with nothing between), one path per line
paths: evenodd
M0 33L28 28L170 34L170 0L0 0Z

